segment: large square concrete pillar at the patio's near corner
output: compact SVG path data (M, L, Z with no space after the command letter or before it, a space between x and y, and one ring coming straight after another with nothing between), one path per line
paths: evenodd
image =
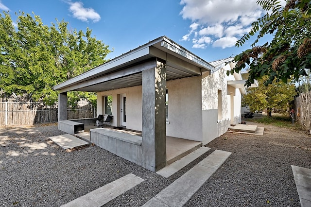
M166 165L166 65L142 72L142 166L153 172Z

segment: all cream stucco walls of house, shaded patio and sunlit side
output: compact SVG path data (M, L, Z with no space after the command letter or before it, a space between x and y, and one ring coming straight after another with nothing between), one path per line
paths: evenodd
M231 79L232 78L232 79ZM202 141L207 144L224 134L231 124L241 122L241 92L236 88L227 88L225 69L219 69L211 75L202 75L167 81L168 119L166 135ZM222 93L221 119L218 119L218 91ZM231 92L230 92L231 91ZM233 92L232 92L233 91ZM103 114L103 97L112 95L114 116L112 125L120 125L120 94L126 94L126 127L142 130L142 88L141 86L121 88L97 93L97 114ZM231 97L234 94L233 98ZM231 101L234 101L233 107ZM233 120L231 121L231 110Z

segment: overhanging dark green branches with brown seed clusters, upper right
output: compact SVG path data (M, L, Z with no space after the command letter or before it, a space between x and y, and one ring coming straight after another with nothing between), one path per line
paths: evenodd
M242 46L250 36L257 39L251 45L252 49L235 56L237 62L234 71L249 66L247 86L264 75L268 75L265 84L272 84L275 79L287 83L294 76L298 80L301 75L307 75L305 69L311 69L311 1L287 0L282 7L278 0L258 0L257 3L266 15L252 23L248 34L236 43ZM264 35L273 35L270 43L255 46Z

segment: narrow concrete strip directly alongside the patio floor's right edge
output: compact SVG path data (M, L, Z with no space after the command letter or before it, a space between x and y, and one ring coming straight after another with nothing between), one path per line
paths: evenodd
M187 166L190 162L198 158L199 156L206 153L210 148L208 147L200 147L199 149L196 149L195 151L191 152L190 154L176 160L172 164L167 165L166 167L162 168L161 170L157 171L156 173L159 175L162 175L163 177L170 177L180 169Z

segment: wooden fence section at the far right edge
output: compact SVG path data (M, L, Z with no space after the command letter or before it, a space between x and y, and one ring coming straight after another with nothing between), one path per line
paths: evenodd
M311 92L300 93L295 98L295 120L311 133Z

